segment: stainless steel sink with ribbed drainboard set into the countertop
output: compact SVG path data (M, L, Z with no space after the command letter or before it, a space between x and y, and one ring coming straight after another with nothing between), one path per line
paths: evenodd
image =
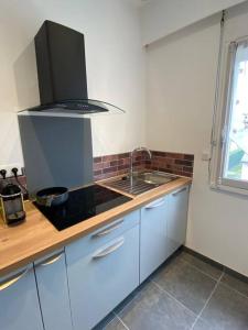
M106 186L131 195L140 195L155 187L168 184L176 178L177 176L169 173L141 172L133 173L132 179L130 176L125 176L122 178L106 183Z

